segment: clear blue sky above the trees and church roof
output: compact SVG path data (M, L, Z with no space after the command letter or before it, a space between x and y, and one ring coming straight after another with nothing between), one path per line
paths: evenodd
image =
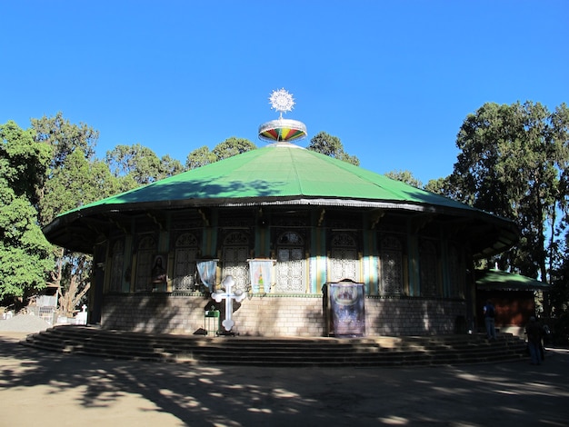
M338 136L361 165L450 174L486 102L569 103L569 2L5 0L0 124L61 111L98 157L143 144L185 163L285 118Z

